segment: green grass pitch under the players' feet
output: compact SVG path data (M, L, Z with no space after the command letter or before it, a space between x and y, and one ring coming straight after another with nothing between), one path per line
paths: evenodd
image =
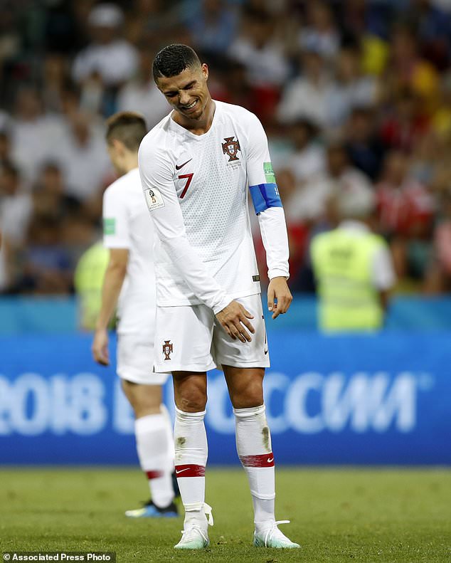
M257 549L241 470L207 473L215 526L205 552L176 552L181 518L130 520L134 469L0 470L0 551L114 551L128 562L451 561L451 471L277 470L277 517L301 550Z

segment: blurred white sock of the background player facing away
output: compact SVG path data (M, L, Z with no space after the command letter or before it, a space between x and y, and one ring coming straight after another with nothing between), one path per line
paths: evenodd
M174 500L172 468L174 441L163 413L149 414L134 421L139 465L149 479L152 502L164 508Z

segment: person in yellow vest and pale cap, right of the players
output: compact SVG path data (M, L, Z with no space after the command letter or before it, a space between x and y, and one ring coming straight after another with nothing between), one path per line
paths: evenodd
M374 196L341 194L332 205L339 226L314 237L311 246L319 327L325 332L379 330L395 273L386 242L371 232Z

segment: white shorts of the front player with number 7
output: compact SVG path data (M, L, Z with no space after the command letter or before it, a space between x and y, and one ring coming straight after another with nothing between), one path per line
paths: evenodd
M156 307L155 372L207 372L221 364L269 367L260 294L237 301L254 316L252 342L230 338L206 305Z

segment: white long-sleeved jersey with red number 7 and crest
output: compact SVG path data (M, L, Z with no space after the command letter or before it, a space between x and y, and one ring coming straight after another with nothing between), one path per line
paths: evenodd
M205 302L217 312L232 298L260 293L247 201L248 186L274 182L267 138L253 113L214 103L213 122L203 135L181 127L170 114L139 148L144 195L160 239L159 306ZM174 239L183 248L178 250ZM191 250L186 268L184 252ZM281 261L286 258L282 254ZM288 275L285 262L275 275ZM205 287L205 270L216 285Z

